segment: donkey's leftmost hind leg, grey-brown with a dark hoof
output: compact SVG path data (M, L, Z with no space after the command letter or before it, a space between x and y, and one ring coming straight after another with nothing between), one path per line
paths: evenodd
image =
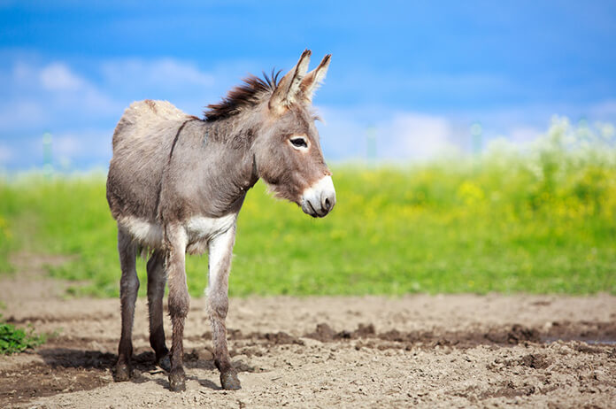
M133 319L135 317L135 301L139 290L139 278L135 268L137 246L123 228L118 228L119 266L122 278L119 281L119 302L122 310L122 335L119 338L118 362L115 367L116 382L127 381L130 378L133 355Z

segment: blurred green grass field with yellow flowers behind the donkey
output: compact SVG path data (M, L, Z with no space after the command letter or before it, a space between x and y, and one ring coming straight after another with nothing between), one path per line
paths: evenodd
M616 292L616 150L589 129L560 122L524 152L334 173L338 204L323 220L261 182L249 192L232 295ZM117 295L104 175L0 180L0 270L19 250L72 255L50 274L79 282L77 295ZM202 294L206 257L187 270Z

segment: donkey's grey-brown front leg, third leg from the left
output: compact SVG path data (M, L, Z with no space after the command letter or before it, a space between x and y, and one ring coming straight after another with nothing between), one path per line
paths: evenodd
M184 321L189 314L190 307L189 288L186 285L186 245L186 232L181 226L175 225L166 228L169 314L173 327L169 388L173 391L186 390L186 374L184 374L182 367Z

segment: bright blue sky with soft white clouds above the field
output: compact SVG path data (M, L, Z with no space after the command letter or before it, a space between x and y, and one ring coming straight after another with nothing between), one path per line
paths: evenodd
M524 142L554 114L616 122L616 3L0 0L0 169L105 167L124 108L189 113L302 50L332 64L315 97L326 157L416 160Z

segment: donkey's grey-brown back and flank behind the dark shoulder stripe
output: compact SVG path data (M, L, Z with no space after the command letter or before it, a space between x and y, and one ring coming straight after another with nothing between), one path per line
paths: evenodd
M107 201L113 218L153 222L163 168L173 138L191 117L166 101L131 104L113 132Z

